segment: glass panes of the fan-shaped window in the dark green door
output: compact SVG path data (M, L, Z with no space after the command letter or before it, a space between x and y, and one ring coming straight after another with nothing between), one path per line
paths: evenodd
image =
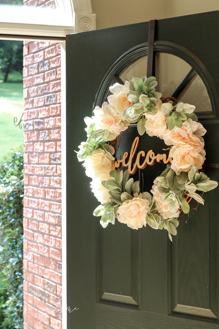
M146 75L146 67L147 56L144 56L126 67L119 77L123 82L133 77L141 78ZM171 96L190 70L191 66L181 58L172 54L156 53L157 91L164 97ZM207 89L198 74L185 87L178 100L195 105L196 113L212 111Z

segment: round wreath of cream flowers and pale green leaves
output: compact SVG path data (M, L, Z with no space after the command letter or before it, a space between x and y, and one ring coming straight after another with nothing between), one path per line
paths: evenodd
M190 200L204 204L203 193L218 183L202 170L206 129L197 122L195 106L162 98L156 86L155 77L111 86L108 102L101 108L96 106L91 118L84 118L87 140L80 144L77 158L92 179L92 192L101 203L94 215L101 216L103 227L114 224L115 218L132 229L148 224L153 229L166 229L172 241L177 218L181 212L189 213ZM117 140L129 123L136 122L139 135L157 136L170 149L171 163L155 178L152 195L140 193L140 182L130 178L128 169L114 169Z

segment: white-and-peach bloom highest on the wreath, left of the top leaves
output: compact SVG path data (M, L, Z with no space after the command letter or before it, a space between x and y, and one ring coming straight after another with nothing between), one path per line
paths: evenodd
M109 90L113 93L112 95L107 97L108 102L117 113L122 114L124 109L128 106L133 105L133 103L128 101L127 93L129 90L129 82L126 81L124 85L120 85L119 83L115 83L113 86L109 88Z

